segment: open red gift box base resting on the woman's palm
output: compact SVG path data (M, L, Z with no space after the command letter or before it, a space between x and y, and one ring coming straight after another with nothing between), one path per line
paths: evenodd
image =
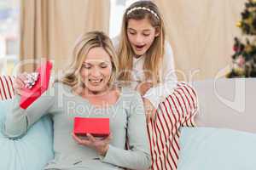
M90 133L94 137L108 137L109 118L75 117L73 133L77 136L86 136L86 133Z

